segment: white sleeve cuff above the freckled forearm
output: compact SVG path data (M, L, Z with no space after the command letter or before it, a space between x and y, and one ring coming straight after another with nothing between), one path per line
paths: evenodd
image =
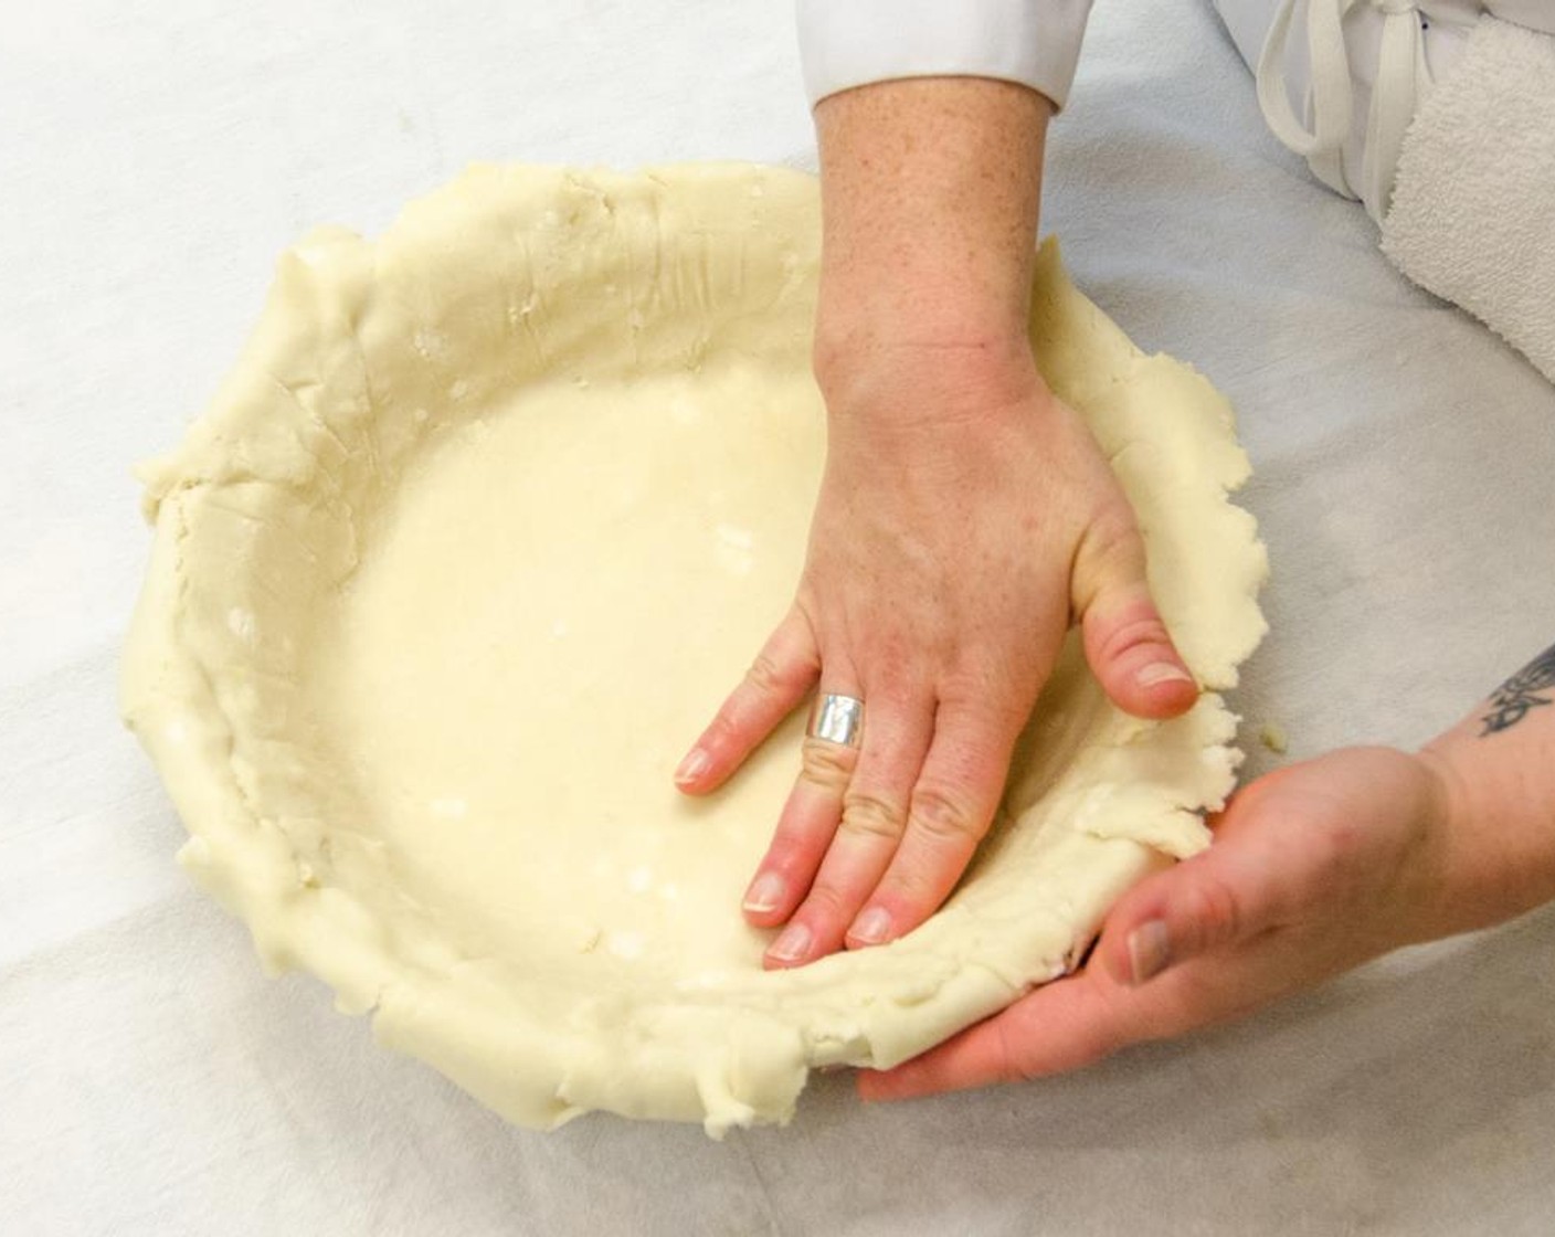
M1062 107L1090 0L798 0L810 103L891 78L1000 78Z

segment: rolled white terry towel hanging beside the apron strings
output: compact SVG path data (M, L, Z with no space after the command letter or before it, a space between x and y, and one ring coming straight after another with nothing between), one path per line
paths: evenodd
M1382 252L1555 383L1555 36L1479 20L1404 135Z

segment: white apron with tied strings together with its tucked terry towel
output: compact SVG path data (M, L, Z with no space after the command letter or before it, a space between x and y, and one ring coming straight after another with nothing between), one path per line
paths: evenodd
M1214 5L1274 134L1555 381L1555 0Z

